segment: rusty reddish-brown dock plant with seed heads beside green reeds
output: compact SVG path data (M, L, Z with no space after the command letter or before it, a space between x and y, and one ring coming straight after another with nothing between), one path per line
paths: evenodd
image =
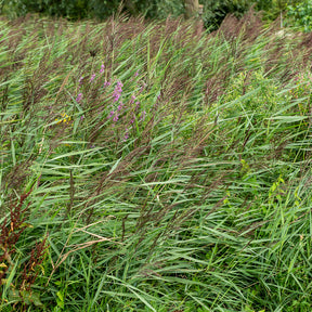
M20 200L12 205L10 208L10 220L6 218L1 224L0 236L0 286L1 286L1 304L0 308L5 306L4 302L13 302L15 309L21 303L22 309L31 306L42 307L40 301L40 294L32 289L36 284L38 274L41 271L41 264L46 253L47 237L35 245L30 250L30 258L24 264L22 272L18 272L18 240L27 227L31 225L26 223L29 213L30 203L23 208L25 200L30 195L30 191L23 194ZM15 263L14 263L15 262ZM16 272L17 271L17 272ZM23 308L24 307L24 308Z

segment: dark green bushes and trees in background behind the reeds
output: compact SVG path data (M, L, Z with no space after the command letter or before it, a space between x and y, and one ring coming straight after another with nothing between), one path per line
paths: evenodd
M282 12L289 12L296 23L310 22L310 0L199 0L204 4L203 20L206 28L214 30L226 14L242 17L253 8L263 12L263 17L274 21ZM62 16L70 21L98 18L104 21L118 14L143 15L146 18L166 18L185 13L184 0L2 0L0 14L10 17L40 13L48 16ZM308 18L308 20L307 20Z

